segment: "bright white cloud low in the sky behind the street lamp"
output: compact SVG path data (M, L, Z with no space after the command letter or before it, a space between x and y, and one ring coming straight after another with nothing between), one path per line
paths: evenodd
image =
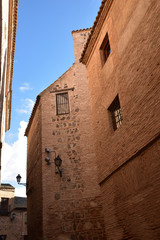
M25 187L20 187L16 183L16 176L22 176L22 182L26 182L26 162L27 162L27 138L24 136L27 122L21 121L18 129L18 139L13 144L4 142L2 148L2 182L15 182L16 195L24 196Z

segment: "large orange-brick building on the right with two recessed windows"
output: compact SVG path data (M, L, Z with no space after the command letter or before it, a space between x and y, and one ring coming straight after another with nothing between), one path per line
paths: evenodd
M107 239L160 238L160 1L103 0L87 67Z

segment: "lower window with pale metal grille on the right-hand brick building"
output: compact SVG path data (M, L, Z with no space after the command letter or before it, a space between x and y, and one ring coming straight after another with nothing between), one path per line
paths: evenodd
M122 110L120 106L120 101L118 95L114 99L114 101L109 106L108 110L111 112L113 128L116 130L120 127L123 121Z

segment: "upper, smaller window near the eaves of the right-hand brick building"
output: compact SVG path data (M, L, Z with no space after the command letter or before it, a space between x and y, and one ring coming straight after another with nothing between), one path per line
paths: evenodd
M110 53L111 53L111 47L110 47L108 33L107 33L100 47L102 65L105 64Z

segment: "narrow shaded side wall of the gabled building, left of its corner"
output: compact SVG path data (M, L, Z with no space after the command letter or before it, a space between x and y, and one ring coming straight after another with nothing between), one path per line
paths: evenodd
M42 157L40 106L34 113L27 138L27 208L29 239L42 239Z

